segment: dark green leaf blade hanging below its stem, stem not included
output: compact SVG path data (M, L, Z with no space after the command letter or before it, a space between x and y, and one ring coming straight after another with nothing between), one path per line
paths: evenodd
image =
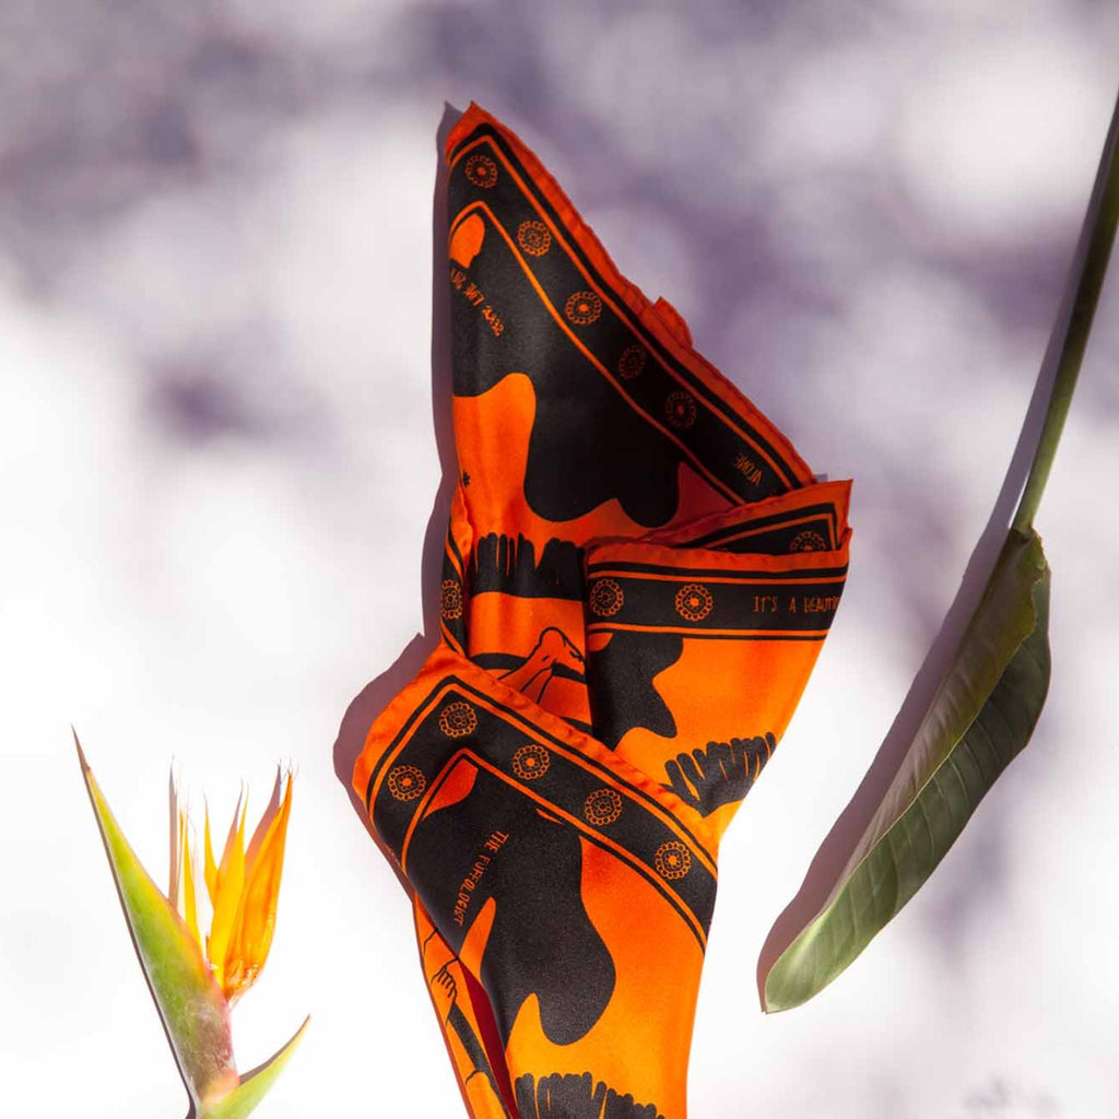
M1029 741L1050 680L1050 570L1010 532L902 768L824 909L765 978L767 1010L807 1002L916 893Z

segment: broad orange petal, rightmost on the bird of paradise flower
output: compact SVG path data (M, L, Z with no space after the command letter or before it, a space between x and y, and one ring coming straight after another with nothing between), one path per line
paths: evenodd
M256 981L272 947L291 816L291 784L289 775L283 802L264 833L246 878L237 924L229 938L222 986L231 1003Z

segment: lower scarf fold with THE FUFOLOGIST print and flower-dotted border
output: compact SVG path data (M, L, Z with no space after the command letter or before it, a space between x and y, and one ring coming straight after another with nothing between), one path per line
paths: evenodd
M525 1078L586 1073L683 1115L715 900L703 817L445 647L398 698L355 784L431 923L436 1006L455 969L480 982L515 1094ZM489 1116L499 1061L454 1003L441 1024L472 1113Z

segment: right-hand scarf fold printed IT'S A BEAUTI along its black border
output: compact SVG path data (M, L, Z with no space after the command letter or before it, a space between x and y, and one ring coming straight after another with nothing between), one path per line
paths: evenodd
M720 834L784 734L835 618L848 499L846 482L807 486L586 547L594 733Z

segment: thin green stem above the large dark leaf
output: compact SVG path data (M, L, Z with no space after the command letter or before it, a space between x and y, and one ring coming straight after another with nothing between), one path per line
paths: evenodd
M1041 439L1029 466L1022 500L1014 515L1012 527L1019 533L1028 533L1033 528L1034 516L1045 491L1056 445L1061 441L1069 405L1072 403L1072 392L1076 387L1076 377L1080 375L1084 350L1088 348L1088 336L1092 330L1092 319L1108 270L1108 260L1116 237L1116 224L1119 220L1117 138L1119 138L1119 101L1116 102L1111 114L1111 126L1103 144L1103 153L1100 156L1096 185L1084 215L1080 243L1070 273L1070 288L1075 283L1072 305L1066 318L1057 319L1050 339L1050 352L1054 352L1060 344L1060 357L1053 387L1050 391Z

